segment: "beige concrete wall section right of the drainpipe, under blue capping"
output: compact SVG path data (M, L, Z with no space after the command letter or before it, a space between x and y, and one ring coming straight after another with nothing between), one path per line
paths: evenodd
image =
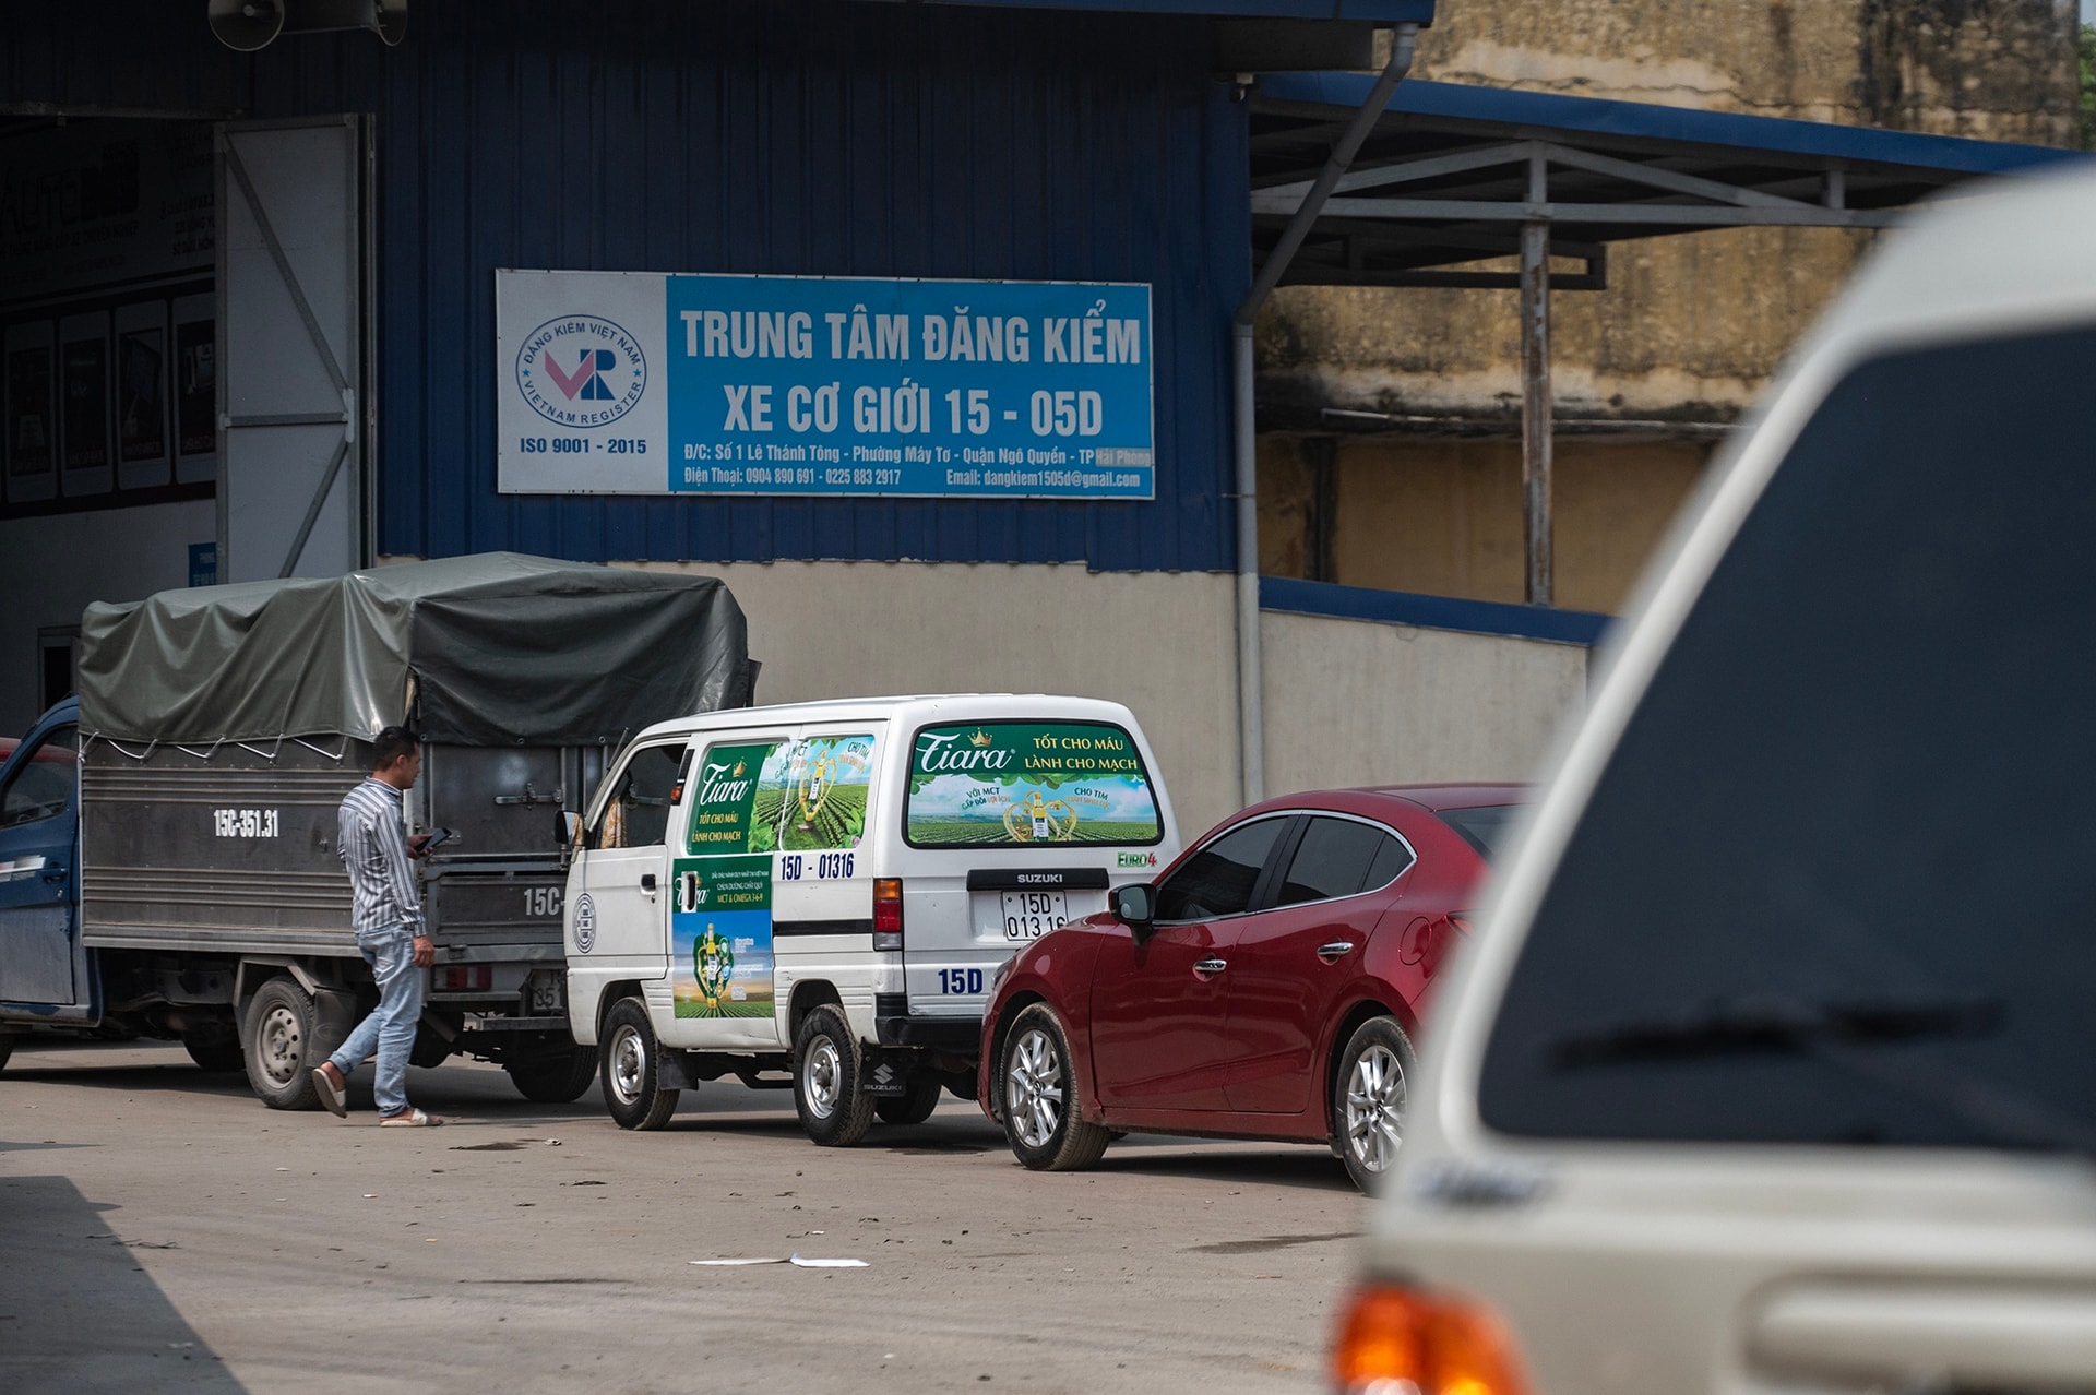
M1587 649L1264 612L1266 788L1526 779L1585 712Z

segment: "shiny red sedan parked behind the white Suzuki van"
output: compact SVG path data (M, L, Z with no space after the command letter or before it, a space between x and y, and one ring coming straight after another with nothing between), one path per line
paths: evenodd
M977 1100L1040 1171L1193 1133L1331 1144L1369 1190L1434 972L1524 796L1318 790L1232 815L1000 970Z

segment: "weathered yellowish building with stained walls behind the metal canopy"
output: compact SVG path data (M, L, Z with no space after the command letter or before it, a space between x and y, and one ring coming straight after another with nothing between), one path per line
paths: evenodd
M1465 0L1415 78L2073 145L2071 0ZM1614 612L1725 423L1872 233L1618 245L1555 297L1555 603ZM1505 264L1494 264L1505 266ZM1260 320L1260 566L1520 601L1513 291L1285 287Z

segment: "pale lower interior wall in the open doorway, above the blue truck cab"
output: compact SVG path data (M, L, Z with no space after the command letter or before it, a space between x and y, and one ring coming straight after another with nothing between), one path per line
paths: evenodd
M140 601L189 584L189 545L218 536L210 499L0 522L0 733L42 712L38 641L88 601Z

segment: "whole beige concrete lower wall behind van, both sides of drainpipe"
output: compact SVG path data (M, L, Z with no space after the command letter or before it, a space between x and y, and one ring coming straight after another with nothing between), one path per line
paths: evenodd
M1228 576L1082 568L650 563L719 576L761 702L1056 691L1126 702L1186 836L1239 809ZM1266 612L1266 788L1520 779L1587 691L1587 649Z

